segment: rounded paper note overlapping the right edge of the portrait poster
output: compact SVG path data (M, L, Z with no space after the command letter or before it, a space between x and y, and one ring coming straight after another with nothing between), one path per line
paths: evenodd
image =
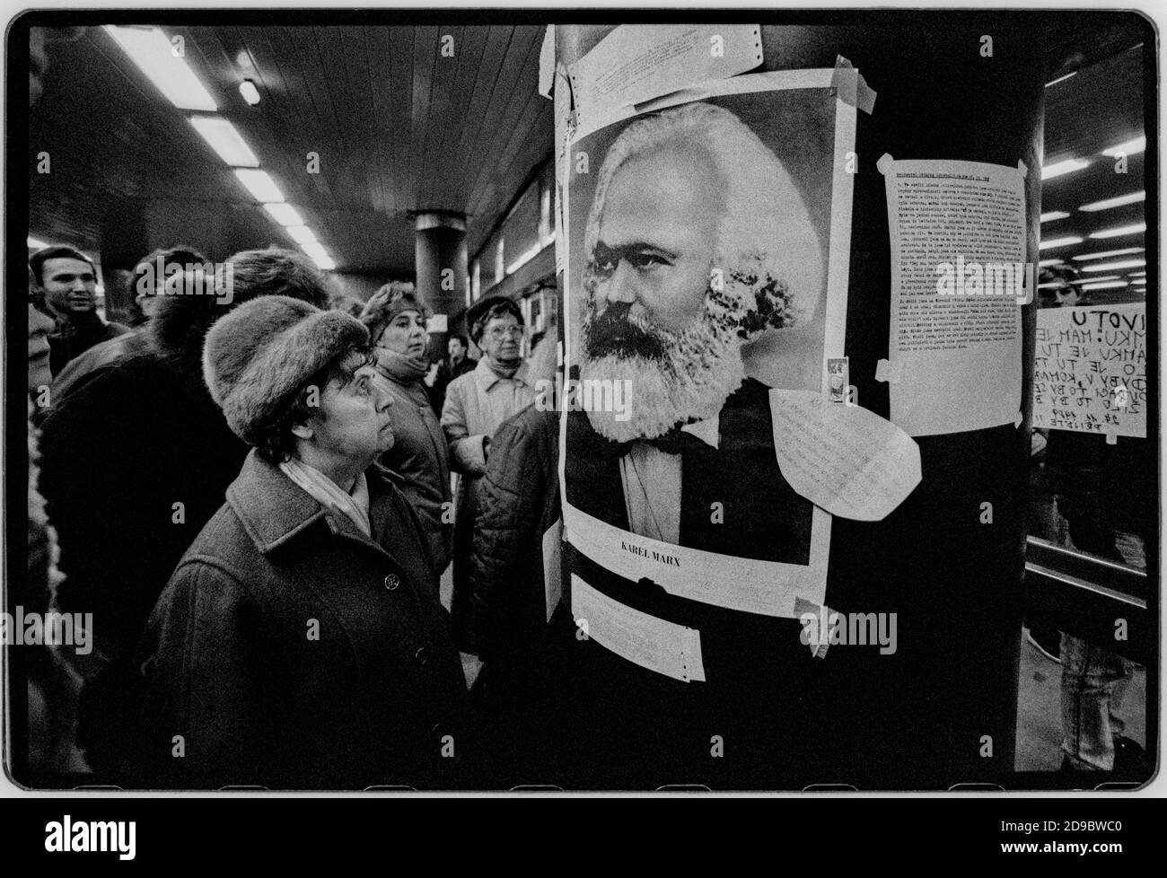
M831 515L881 521L920 483L920 446L874 412L771 390L770 419L783 478Z

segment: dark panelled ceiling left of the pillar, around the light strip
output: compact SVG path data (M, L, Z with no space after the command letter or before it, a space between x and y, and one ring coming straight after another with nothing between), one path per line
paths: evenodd
M537 88L541 27L161 29L182 37L216 113L340 271L411 273L417 210L466 214L473 256L551 152L552 105ZM125 237L139 255L187 243L210 258L295 246L196 133L195 113L174 106L105 28L50 41L48 57L29 123L30 235L104 251ZM240 95L244 79L258 105ZM35 173L42 152L49 174Z

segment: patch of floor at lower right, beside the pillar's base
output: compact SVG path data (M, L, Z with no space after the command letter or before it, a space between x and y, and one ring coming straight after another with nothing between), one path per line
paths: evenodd
M1019 772L1053 772L1062 764L1061 683L1062 666L1051 662L1022 636L1014 761ZM1146 670L1139 668L1120 711L1126 737L1144 747L1147 740L1146 687Z

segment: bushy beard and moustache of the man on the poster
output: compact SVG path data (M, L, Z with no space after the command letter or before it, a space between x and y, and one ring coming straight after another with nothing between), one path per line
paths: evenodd
M687 328L672 333L628 315L627 306L601 314L595 307L595 285L586 278L587 314L584 319L584 381L624 381L627 409L589 411L592 428L613 441L655 439L678 424L712 418L746 377L742 340L734 321L719 320L710 308ZM615 312L615 313L614 313Z

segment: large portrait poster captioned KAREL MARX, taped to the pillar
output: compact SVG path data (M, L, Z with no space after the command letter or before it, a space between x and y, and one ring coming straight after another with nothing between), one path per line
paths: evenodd
M830 516L782 476L769 390L825 392L843 356L854 107L809 88L829 72L659 102L578 132L566 168L567 538L766 615L825 588Z

